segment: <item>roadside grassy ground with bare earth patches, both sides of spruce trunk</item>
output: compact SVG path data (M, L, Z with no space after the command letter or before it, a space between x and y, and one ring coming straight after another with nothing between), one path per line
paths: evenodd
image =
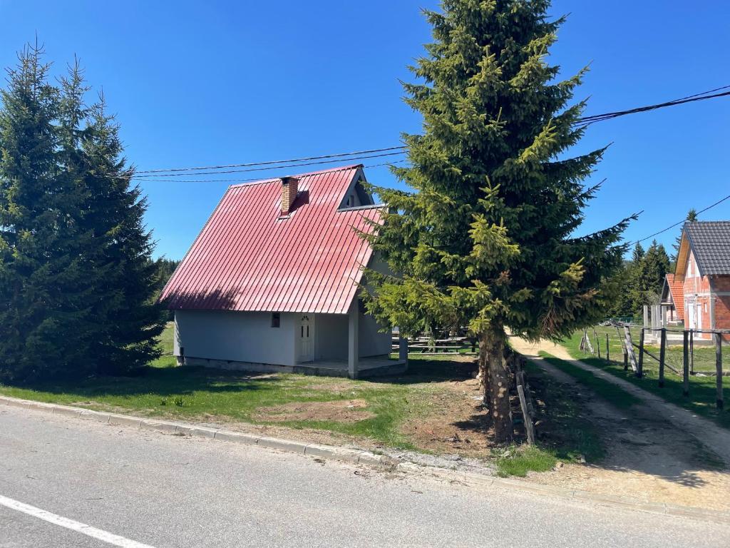
M549 470L557 460L581 455L595 460L601 454L592 425L581 418L572 397L539 370L530 372L544 433L539 446L492 447L485 412L475 400L474 359L412 355L406 374L372 381L247 374L176 367L172 336L169 324L160 341L164 355L134 376L0 385L0 394L229 427L266 425L299 438L324 433L366 446L457 453L484 459L502 475L523 476Z

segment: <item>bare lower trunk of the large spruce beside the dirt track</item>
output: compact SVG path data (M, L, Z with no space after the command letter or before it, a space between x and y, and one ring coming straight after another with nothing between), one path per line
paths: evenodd
M512 441L512 413L510 412L510 376L504 362L504 330L495 328L480 334L480 372L483 368L484 397L488 401L494 441ZM483 359L484 358L484 359Z

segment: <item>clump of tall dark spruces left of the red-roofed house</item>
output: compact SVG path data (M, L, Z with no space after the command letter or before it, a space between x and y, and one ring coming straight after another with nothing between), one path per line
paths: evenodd
M38 47L19 61L0 106L0 378L137 367L164 316L118 129L78 66L54 85Z

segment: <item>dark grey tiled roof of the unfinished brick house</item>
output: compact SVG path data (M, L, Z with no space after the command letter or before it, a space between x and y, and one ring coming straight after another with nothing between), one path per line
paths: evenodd
M730 221L685 223L702 275L730 275Z

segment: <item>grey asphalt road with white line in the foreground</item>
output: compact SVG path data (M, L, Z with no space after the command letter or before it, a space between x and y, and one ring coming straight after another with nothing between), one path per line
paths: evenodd
M725 525L0 407L3 548L729 545Z

